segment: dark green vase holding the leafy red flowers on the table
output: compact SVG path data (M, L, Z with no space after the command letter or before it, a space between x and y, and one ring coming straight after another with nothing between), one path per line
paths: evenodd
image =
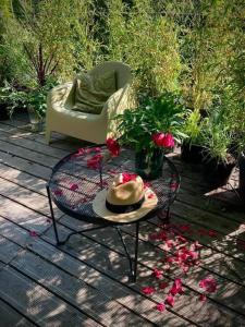
M154 180L162 175L164 153L160 148L152 153L143 149L135 154L135 171L145 180Z

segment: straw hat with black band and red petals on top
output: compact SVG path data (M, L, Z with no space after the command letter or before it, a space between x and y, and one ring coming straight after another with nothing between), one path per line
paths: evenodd
M151 189L144 186L139 175L120 173L108 189L96 195L93 209L107 220L131 222L146 216L157 203L157 195Z

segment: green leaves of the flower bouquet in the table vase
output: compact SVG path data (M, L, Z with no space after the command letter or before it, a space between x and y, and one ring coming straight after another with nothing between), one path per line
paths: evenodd
M115 117L120 142L136 150L154 146L151 136L157 132L171 132L180 142L185 108L180 96L166 92L157 98L143 97L139 107L127 109Z

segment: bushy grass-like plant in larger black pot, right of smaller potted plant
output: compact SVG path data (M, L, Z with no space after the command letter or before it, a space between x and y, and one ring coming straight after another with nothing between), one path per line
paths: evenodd
M229 123L213 112L205 120L204 137L204 172L205 178L213 187L226 184L236 160L231 154L233 133Z

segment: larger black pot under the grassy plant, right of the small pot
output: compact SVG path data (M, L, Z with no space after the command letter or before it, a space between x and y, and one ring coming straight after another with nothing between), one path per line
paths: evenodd
M210 186L217 189L226 185L232 169L235 167L235 159L232 156L228 158L228 162L219 162L216 158L204 162L205 179Z

